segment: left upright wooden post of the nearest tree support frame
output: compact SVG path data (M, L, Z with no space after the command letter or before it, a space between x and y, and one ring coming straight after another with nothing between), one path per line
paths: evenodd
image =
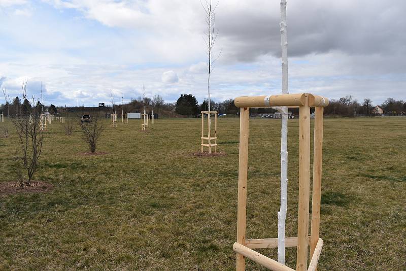
M237 209L237 243L245 245L247 219L247 178L248 178L248 134L249 108L240 111L240 154L238 166L238 209ZM244 256L237 253L237 271L245 270Z

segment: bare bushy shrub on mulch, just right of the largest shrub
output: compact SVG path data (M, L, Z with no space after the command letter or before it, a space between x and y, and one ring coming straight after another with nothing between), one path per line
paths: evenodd
M78 120L78 123L82 129L82 140L87 143L90 151L95 153L97 142L100 139L101 133L103 133L105 129L103 120L96 116L93 117L90 122L82 123L81 120Z

